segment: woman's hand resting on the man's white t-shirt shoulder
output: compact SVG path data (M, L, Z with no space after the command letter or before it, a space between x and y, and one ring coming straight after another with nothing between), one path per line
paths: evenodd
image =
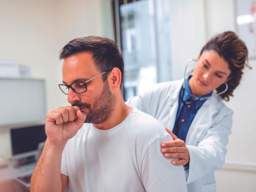
M164 154L165 158L180 159L173 160L174 165L185 165L189 162L189 152L186 144L183 140L180 140L176 135L174 135L168 128L165 130L172 136L173 141L167 141L161 143L161 152Z

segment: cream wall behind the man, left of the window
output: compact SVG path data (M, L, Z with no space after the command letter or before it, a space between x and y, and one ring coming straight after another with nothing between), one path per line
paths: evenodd
M33 78L46 80L47 112L70 105L58 87L60 49L76 37L104 36L102 9L101 0L0 0L0 59L28 65ZM8 127L1 127L5 157L11 156L9 138Z

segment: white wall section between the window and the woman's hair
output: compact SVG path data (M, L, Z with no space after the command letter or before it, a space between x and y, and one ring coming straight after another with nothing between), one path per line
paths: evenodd
M206 41L203 0L172 0L171 45L172 77L183 77L189 59L196 59Z

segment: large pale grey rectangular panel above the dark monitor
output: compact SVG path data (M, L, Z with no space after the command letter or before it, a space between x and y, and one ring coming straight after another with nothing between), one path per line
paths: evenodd
M0 126L45 120L44 80L0 78L0 87Z

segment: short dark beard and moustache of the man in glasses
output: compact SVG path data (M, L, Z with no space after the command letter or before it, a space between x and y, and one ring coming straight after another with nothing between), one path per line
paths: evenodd
M104 82L102 92L95 98L92 106L86 102L76 102L71 105L88 108L89 112L86 114L84 123L100 124L110 118L115 109L116 97L110 92L108 81L106 81Z

